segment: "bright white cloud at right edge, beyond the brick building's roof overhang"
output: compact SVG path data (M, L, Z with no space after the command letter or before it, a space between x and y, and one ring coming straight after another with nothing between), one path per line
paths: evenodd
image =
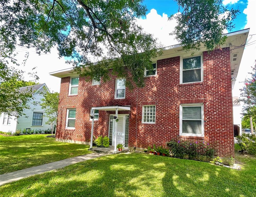
M244 9L243 13L246 14L246 28L250 28L249 36L250 38L252 34L256 34L256 13L255 13L255 7L256 7L256 2L255 0L248 0L248 5ZM256 40L256 35L253 35L251 40L249 41L255 41ZM254 42L255 43L255 42ZM252 43L251 43L252 44ZM249 45L249 44L248 44ZM252 44L250 46L246 46L244 48L244 53L243 57L241 60L241 64L239 67L239 72L236 77L236 82L235 86L233 89L233 96L239 96L240 95L240 90L243 87L243 83L239 83L244 81L245 78L250 77L248 74L249 72L252 71L251 66L254 65L254 61L256 60L256 44Z

